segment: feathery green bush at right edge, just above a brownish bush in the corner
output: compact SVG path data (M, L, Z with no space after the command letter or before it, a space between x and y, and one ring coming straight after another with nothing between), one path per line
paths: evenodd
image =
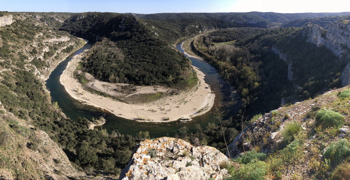
M346 139L340 139L338 142L332 142L323 153L323 158L330 159L334 167L342 164L350 156L350 142Z

